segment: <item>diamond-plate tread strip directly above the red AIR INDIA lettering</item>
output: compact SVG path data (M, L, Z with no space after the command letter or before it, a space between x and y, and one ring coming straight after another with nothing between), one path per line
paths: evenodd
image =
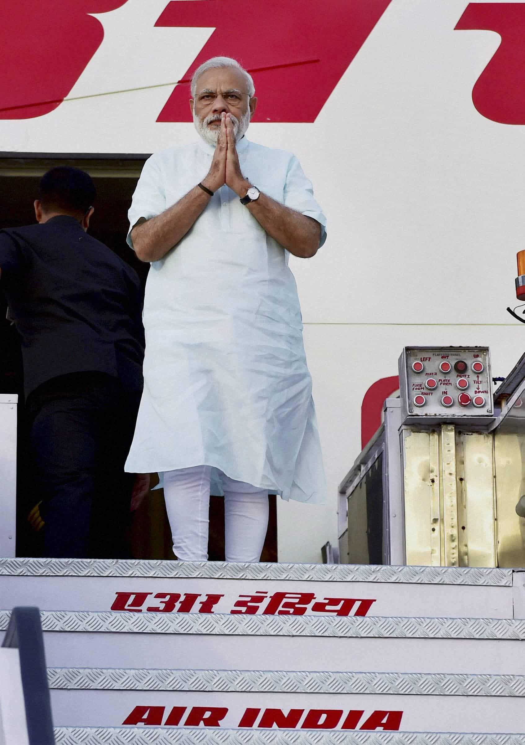
M51 689L68 691L525 697L524 675L48 668L48 682Z

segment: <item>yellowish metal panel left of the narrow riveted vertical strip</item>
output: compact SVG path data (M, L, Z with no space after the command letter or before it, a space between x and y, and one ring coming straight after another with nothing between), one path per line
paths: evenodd
M407 564L431 566L436 561L432 554L435 545L431 540L431 528L439 535L439 525L432 524L435 507L431 514L436 488L439 495L439 462L434 460L430 432L404 430L402 448Z

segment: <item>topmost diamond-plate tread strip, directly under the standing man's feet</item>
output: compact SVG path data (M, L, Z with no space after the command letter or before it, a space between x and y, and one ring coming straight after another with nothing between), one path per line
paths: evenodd
M0 575L60 577L166 577L214 580L297 580L512 586L512 569L379 566L369 564L279 564L177 562L123 559L0 558Z

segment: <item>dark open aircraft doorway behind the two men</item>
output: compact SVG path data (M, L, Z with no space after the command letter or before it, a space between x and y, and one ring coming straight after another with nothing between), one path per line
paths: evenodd
M39 178L56 165L72 165L88 171L97 187L97 201L89 232L109 246L138 273L144 288L149 264L136 259L126 244L127 211L135 185L146 159L144 156L17 156L0 153L0 229L28 225L35 221L33 200ZM36 525L28 515L39 502L31 482L30 457L25 437L22 362L16 331L7 322L6 303L0 283L0 393L19 394L19 443L17 484L17 548L18 556L41 555L41 541ZM152 485L157 477L152 477ZM224 501L210 498L209 557L224 559ZM173 559L170 527L164 508L164 495L159 489L150 492L142 507L132 516L130 527L132 554L136 559ZM275 496L270 496L270 520L262 561L277 561L277 508Z

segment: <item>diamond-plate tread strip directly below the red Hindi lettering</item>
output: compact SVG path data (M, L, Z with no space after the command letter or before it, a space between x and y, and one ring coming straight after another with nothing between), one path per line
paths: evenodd
M316 636L431 639L525 639L515 618L406 618L313 615L184 615L93 611L42 611L44 632ZM0 631L10 612L0 610Z

